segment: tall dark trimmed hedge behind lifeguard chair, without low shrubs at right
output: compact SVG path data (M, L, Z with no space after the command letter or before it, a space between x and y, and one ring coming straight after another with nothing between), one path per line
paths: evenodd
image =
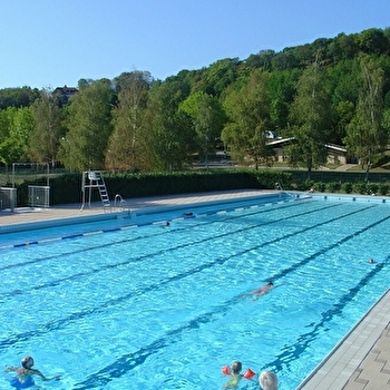
M191 194L243 188L275 188L275 183L291 186L291 174L279 170L195 170L153 174L105 174L105 183L111 199L119 194L123 198L158 195ZM28 185L41 182L25 182L18 186L17 205L28 204ZM82 202L81 174L64 174L50 178L50 205ZM98 191L91 192L91 202L100 201Z

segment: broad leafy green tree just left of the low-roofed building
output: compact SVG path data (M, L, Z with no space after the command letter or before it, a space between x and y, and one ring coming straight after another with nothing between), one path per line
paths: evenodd
M230 147L233 159L259 168L271 164L273 153L267 147L270 127L270 74L257 69L252 77L226 97L228 121L221 138Z

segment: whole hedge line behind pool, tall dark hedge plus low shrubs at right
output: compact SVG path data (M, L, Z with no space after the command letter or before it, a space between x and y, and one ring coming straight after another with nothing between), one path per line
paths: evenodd
M325 176L322 174L322 178ZM332 175L329 176L332 178ZM81 203L81 174L62 174L50 178L50 205ZM18 186L17 205L28 205L28 185L38 185L42 178L25 182ZM306 192L315 187L316 192L345 193L361 195L389 195L389 182L316 182L298 181L286 170L189 170L178 173L153 174L105 174L108 195L114 199L119 194L123 198L159 195L192 194L232 189L274 189L280 183L284 189ZM100 201L97 191L91 192L91 201Z

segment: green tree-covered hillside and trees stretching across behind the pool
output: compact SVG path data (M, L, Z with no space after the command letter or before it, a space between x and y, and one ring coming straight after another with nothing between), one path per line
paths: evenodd
M224 145L233 160L259 167L273 163L272 131L294 138L285 155L291 166L324 164L326 143L369 166L388 145L389 55L390 28L372 28L220 59L165 80L138 70L80 79L70 98L1 89L0 162L177 170Z

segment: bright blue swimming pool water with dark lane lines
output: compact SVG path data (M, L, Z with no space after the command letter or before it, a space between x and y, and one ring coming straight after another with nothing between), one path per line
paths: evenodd
M3 248L1 361L32 354L62 376L47 388L116 390L220 389L238 359L294 389L388 289L390 207L276 203L62 227L66 240L42 231L37 245ZM243 296L269 280L270 294Z

